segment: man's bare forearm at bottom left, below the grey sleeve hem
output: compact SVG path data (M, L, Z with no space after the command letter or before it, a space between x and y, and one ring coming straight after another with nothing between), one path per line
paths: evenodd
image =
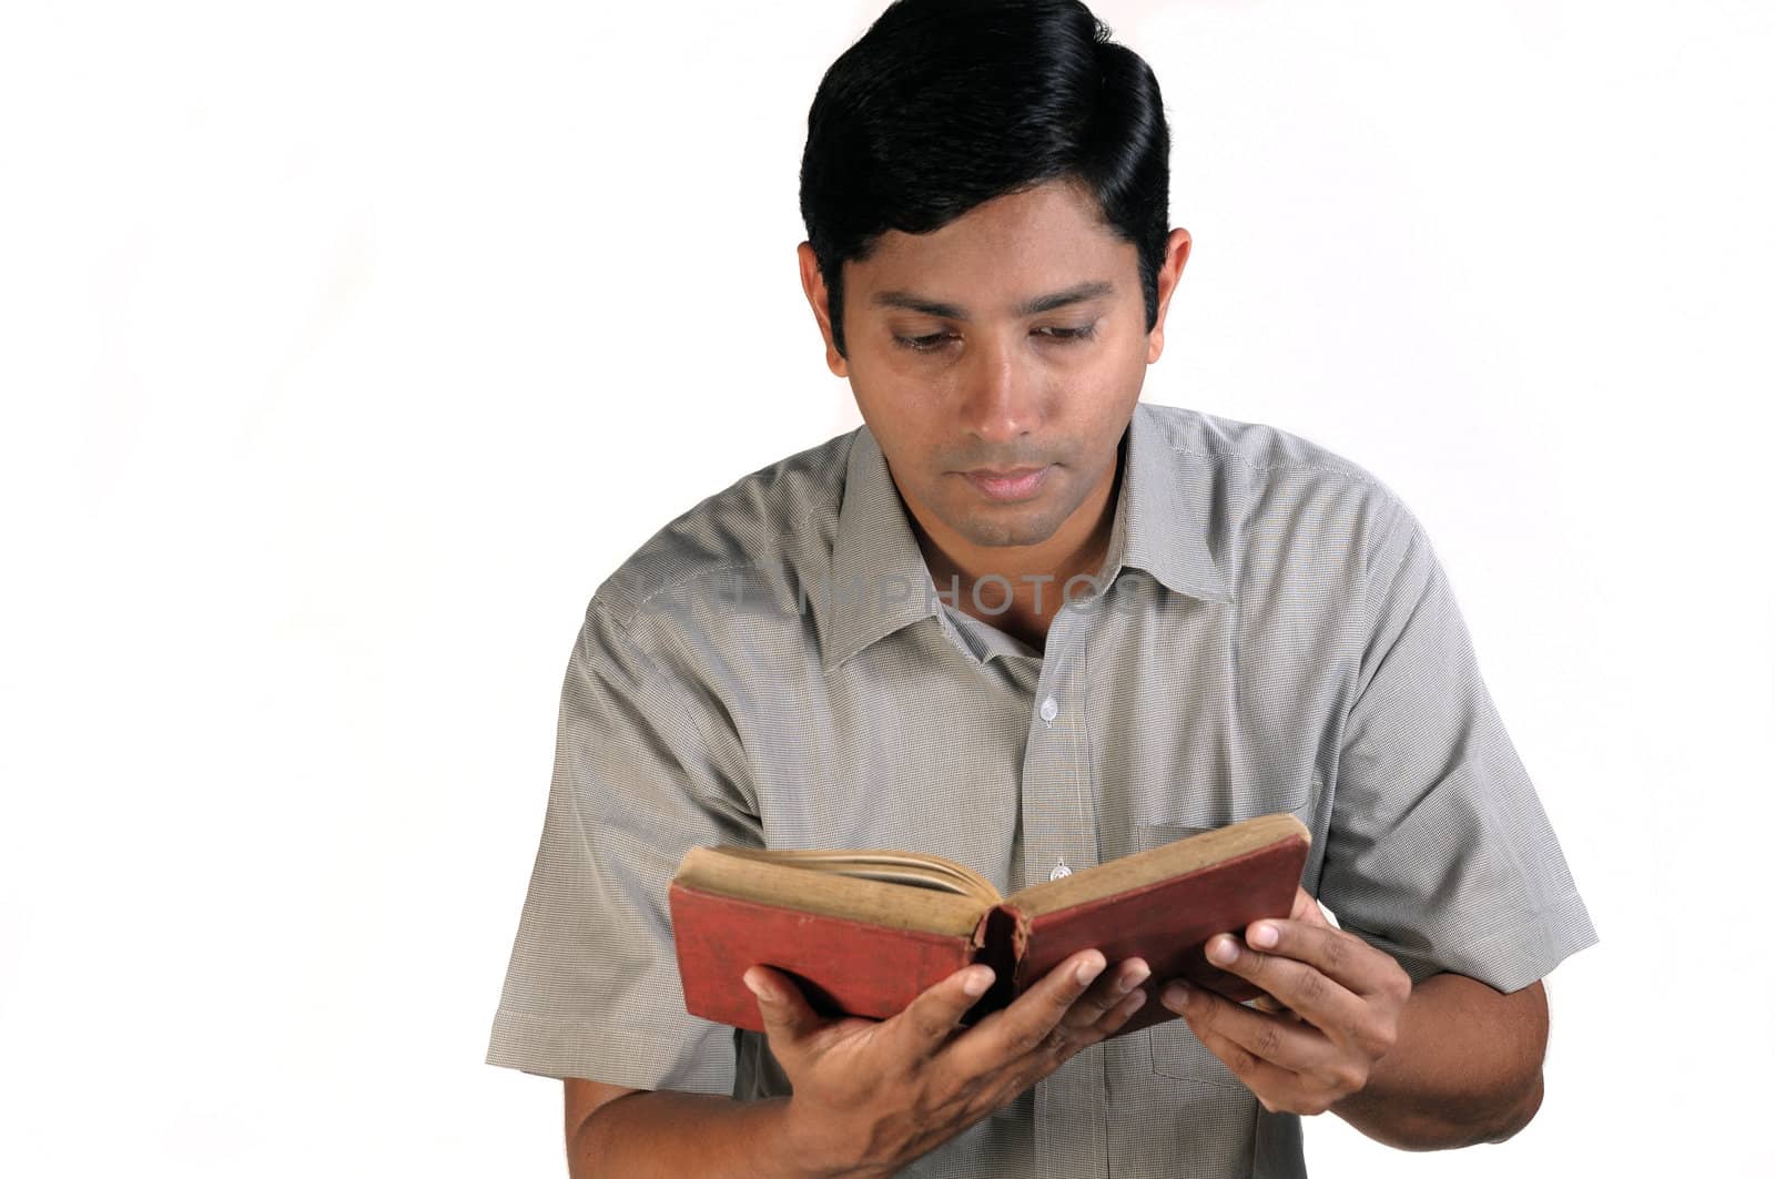
M623 1094L598 1106L568 1142L568 1174L573 1179L829 1174L795 1158L783 1122L788 1101L667 1090Z

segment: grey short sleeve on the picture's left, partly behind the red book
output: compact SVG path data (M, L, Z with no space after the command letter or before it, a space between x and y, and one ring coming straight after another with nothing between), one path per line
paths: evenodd
M728 1094L733 1028L683 1009L666 888L696 845L758 845L706 717L593 600L561 691L541 843L486 1062Z

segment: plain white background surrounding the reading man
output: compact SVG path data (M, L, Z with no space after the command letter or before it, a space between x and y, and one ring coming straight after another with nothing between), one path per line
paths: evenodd
M481 1056L580 613L859 421L797 165L880 0L625 7L0 14L0 1172L563 1174ZM1534 1126L1315 1174L1766 1174L1770 7L1097 12L1147 400L1420 515L1603 938Z

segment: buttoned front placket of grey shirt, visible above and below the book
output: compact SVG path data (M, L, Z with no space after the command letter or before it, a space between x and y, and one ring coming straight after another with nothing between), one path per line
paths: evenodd
M1061 609L1049 625L1022 760L1022 884L1097 863L1085 710L1083 620ZM1108 1174L1109 1092L1102 1046L1072 1056L1035 1087L1035 1161L1051 1179Z

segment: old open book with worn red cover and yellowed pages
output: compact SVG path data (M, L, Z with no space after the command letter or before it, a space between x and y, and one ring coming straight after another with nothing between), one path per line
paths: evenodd
M1289 916L1310 838L1294 815L1260 815L1010 897L943 856L692 847L667 890L685 1010L761 1032L740 975L772 966L816 1010L886 1019L985 962L994 982L973 1023L1088 946L1111 966L1141 957L1152 968L1147 1001L1116 1035L1172 1017L1157 1001L1172 978L1251 1000L1262 993L1211 966L1202 946Z

